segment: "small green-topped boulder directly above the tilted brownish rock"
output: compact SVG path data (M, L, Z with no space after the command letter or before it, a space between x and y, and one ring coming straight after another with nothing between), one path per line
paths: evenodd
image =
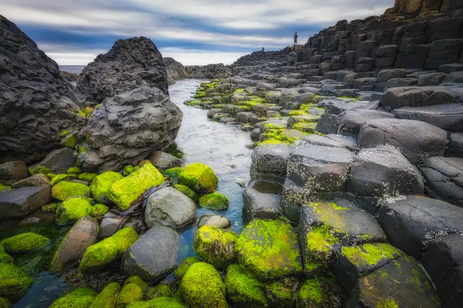
M55 221L58 225L69 225L76 223L82 217L91 215L92 211L93 206L86 198L69 197L56 210Z

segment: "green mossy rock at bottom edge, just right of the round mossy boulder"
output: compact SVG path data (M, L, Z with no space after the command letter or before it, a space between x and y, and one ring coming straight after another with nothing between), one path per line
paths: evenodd
M230 265L225 277L227 297L237 307L268 307L264 285L257 277L239 265Z

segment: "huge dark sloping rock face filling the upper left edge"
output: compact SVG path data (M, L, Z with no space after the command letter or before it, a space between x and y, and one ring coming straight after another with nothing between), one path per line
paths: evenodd
M60 76L58 64L0 15L0 156L29 162L79 130L83 97Z

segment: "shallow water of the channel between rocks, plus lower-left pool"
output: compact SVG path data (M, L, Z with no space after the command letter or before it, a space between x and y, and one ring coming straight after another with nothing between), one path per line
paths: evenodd
M243 207L243 185L250 180L250 145L249 133L242 132L239 127L224 125L208 120L205 109L186 106L183 102L191 99L199 87L201 80L182 80L170 86L170 99L183 111L180 132L175 142L184 153L184 164L202 162L209 165L219 179L217 191L229 199L229 209L211 211L198 208L196 217L201 215L220 214L229 218L231 230L240 233L243 230L241 209ZM0 225L0 239L11 237L23 232L36 232L50 239L53 243L37 253L15 259L15 264L25 267L28 274L34 278L32 288L14 308L46 308L54 302L68 286L62 282L60 276L53 276L46 271L48 263L53 257L55 248L66 235L69 228L55 225L53 220L18 228L15 222L4 222ZM189 225L180 235L180 253L178 263L190 255L196 255L192 248L196 224ZM173 279L173 273L168 280Z

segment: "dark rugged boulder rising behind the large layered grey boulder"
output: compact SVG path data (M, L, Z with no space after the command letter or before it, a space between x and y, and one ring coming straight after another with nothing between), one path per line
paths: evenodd
M77 87L91 102L142 86L157 87L168 94L161 52L142 36L116 41L109 52L88 64L77 80Z

